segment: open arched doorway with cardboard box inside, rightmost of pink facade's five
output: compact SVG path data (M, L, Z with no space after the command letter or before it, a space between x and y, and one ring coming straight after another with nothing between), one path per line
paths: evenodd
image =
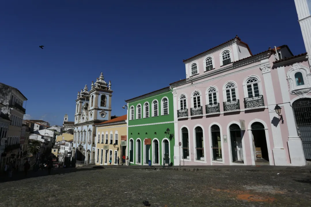
M260 122L254 122L251 126L254 139L254 154L256 165L269 165L269 152L267 147L266 132Z

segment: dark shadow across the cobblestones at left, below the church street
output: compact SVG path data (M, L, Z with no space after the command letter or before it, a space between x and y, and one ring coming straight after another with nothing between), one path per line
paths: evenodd
M98 169L104 169L104 167L91 167L91 168L52 168L51 173L48 173L48 169L44 170L38 170L33 171L29 170L27 173L27 176L25 175L24 171L20 172L13 172L12 178L9 178L7 175L1 175L0 177L0 183L1 182L10 182L10 181L16 181L16 180L22 180L27 178L36 178L36 177L42 177L42 176L48 176L48 175L60 175L60 174L66 174L66 173L74 173L79 171L89 171L89 170L98 170Z

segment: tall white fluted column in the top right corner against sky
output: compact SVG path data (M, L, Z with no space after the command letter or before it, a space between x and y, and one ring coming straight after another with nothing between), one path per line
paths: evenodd
M309 54L309 65L311 65L311 1L295 0L295 6L304 46Z

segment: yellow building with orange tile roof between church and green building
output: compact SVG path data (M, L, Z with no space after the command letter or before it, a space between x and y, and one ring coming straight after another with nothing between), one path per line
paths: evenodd
M96 165L117 164L117 158L120 158L126 150L127 135L127 115L119 116L114 119L96 124Z

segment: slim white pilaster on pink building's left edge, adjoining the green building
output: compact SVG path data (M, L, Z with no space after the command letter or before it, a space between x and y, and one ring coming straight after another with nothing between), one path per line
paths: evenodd
M177 91L173 90L173 104L174 104L174 165L179 165L180 162L180 147L179 147L179 139L178 139L178 119L177 119Z

